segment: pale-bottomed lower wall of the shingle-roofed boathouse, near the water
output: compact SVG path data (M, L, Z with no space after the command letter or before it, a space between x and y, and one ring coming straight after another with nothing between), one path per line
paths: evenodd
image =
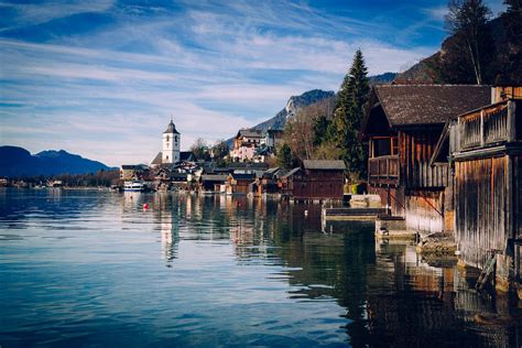
M410 191L406 194L406 228L421 235L444 230L444 191Z

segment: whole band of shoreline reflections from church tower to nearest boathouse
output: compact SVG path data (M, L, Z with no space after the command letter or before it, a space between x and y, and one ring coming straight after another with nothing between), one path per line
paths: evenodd
M346 308L355 347L515 346L514 328L474 324L474 315L491 306L477 302L467 284L455 284L452 268L423 264L404 243L376 246L372 224L334 224L334 232L324 233L318 206L247 197L170 195L159 204L167 263L177 257L180 233L230 240L238 262L289 268L289 282L298 289L290 297L335 298Z

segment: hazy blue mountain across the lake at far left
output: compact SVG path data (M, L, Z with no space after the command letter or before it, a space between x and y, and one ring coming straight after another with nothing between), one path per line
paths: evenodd
M0 176L28 177L37 175L85 174L111 171L104 163L59 151L42 151L32 155L18 146L0 146Z

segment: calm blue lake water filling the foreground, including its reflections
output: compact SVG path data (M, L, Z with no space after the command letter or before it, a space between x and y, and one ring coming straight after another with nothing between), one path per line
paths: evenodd
M2 189L0 346L521 346L520 323L474 320L518 304L453 262L326 230L318 206Z

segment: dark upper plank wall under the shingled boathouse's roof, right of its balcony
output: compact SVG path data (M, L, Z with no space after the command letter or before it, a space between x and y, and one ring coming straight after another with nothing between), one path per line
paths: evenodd
M400 181L406 188L445 187L447 165L429 165L441 128L421 128L399 132Z

